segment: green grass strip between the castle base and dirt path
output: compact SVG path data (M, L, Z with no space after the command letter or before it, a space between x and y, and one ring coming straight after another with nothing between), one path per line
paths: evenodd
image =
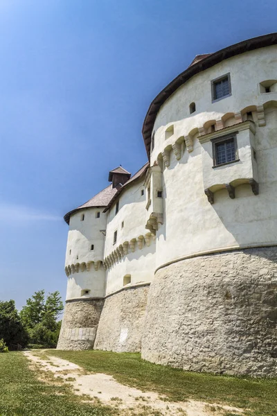
M277 415L277 379L184 372L148 363L141 360L139 354L56 350L48 350L47 354L69 360L89 372L111 374L120 383L159 392L173 401L192 398L249 409L245 415Z

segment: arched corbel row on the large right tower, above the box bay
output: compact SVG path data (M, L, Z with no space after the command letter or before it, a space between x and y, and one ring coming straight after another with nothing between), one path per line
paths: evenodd
M251 108L251 112L257 112L259 127L266 125L264 105L251 105L249 106L249 108ZM175 141L175 143L169 144L168 146L166 146L163 152L160 153L160 156L163 158L163 163L165 164L166 168L170 166L171 151L173 151L177 160L181 159L181 144L183 142L186 145L188 153L191 153L193 152L193 138L195 137L195 135L201 137L204 135L208 135L208 133L211 133L211 131L223 130L224 128L226 128L226 121L229 121L228 127L231 127L231 125L243 123L243 121L245 121L244 118L246 117L246 114L247 112L245 112L245 109L236 113L226 113L224 114L224 116L222 116L220 120L206 121L204 125L202 125L202 127L193 128L193 130L191 130L187 136L179 137L177 141ZM233 119L233 123L231 124L230 119Z

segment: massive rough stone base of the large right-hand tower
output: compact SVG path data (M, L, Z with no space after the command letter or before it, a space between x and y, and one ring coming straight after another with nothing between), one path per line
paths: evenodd
M158 270L142 358L198 372L276 376L276 262L277 248L256 248Z

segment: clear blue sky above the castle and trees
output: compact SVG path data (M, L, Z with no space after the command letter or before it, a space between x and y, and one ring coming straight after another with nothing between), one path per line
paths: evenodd
M0 0L0 300L66 293L63 216L135 173L150 102L199 53L276 31L276 0Z

